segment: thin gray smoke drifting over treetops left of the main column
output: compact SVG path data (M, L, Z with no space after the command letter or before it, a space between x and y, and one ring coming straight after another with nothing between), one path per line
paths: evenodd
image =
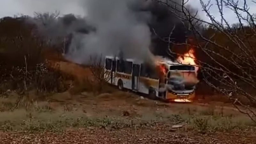
M73 32L89 33L94 28L85 19L77 18L73 14L59 17L59 13L35 13L34 18L28 18L29 23L37 26L37 31L51 44L59 44Z

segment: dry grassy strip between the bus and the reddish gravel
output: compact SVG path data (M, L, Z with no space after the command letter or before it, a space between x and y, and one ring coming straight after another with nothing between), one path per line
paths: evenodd
M28 97L33 99L32 96ZM48 101L24 99L13 109L17 96L1 98L2 131L61 132L66 128L100 127L120 130L147 128L158 124L170 128L184 125L180 131L199 133L246 131L252 121L233 109L217 105L166 104L141 99L130 92L94 95L54 94ZM29 105L26 105L29 103ZM27 106L27 107L26 107Z

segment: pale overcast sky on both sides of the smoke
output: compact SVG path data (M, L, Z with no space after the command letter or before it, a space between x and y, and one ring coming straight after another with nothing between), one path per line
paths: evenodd
M84 16L85 13L79 1L81 0L0 0L0 18L20 14L33 16L34 12L54 11L60 11L61 14L74 13L75 15ZM207 2L208 0L203 1ZM256 13L256 4L252 3L251 0L247 0L247 3L251 7L250 12ZM201 10L199 0L190 0L189 4L199 11L201 18L208 20ZM220 14L215 0L212 0L212 4L214 6L211 9L211 13L218 19L220 18ZM231 10L225 10L224 14L230 23L238 22L236 15Z

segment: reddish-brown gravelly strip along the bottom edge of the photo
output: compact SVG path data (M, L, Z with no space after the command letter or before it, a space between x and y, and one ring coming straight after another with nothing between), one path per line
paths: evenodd
M0 144L254 144L256 137L227 133L199 135L152 129L76 129L64 133L0 132Z

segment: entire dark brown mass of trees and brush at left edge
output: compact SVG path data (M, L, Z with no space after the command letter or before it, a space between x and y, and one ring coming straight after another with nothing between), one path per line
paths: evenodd
M7 91L24 94L62 92L68 89L67 77L48 67L42 52L52 47L35 33L26 17L0 20L0 95Z

